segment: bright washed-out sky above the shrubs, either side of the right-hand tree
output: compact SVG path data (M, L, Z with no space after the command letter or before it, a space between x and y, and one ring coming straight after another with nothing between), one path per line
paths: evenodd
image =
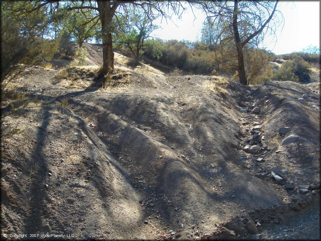
M265 47L275 54L286 54L300 51L308 45L320 47L320 1L280 1L277 7L284 17L284 27L276 31L277 42L265 40ZM172 21L156 21L162 29L153 32L152 36L163 40L177 39L195 41L200 38L200 29L205 14L194 10L196 19L189 10L182 20L175 16ZM274 46L275 45L275 46Z

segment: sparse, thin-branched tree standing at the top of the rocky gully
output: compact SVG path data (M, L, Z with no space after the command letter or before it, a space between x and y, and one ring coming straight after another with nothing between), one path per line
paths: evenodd
M230 30L227 38L233 37L235 57L231 63L220 68L233 69L238 72L240 83L247 85L244 66L243 50L246 47L257 47L266 34L274 34L277 27L282 24L282 13L276 10L278 0L271 1L213 1L203 2L201 5L207 17L221 27L221 32ZM220 35L219 33L219 35ZM227 40L224 38L224 40ZM237 62L236 62L237 60Z

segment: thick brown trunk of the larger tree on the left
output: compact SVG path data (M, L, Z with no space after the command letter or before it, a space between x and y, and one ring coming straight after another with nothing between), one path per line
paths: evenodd
M113 40L111 23L115 10L110 7L110 1L97 1L102 29L102 74L114 71Z

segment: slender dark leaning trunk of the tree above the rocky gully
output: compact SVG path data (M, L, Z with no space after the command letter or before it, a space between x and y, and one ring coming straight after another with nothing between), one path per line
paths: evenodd
M239 67L237 69L239 73L240 83L243 85L247 85L247 79L245 76L245 68L244 68L244 58L243 58L243 47L241 45L239 28L238 28L238 0L234 0L234 11L233 11L233 33L234 40L236 45L236 52L238 55Z

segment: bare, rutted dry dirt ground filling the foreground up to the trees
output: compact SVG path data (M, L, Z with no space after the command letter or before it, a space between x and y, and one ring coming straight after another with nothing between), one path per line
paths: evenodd
M117 59L105 88L93 67L15 81L40 102L1 126L24 129L1 141L2 239L320 239L317 86Z

